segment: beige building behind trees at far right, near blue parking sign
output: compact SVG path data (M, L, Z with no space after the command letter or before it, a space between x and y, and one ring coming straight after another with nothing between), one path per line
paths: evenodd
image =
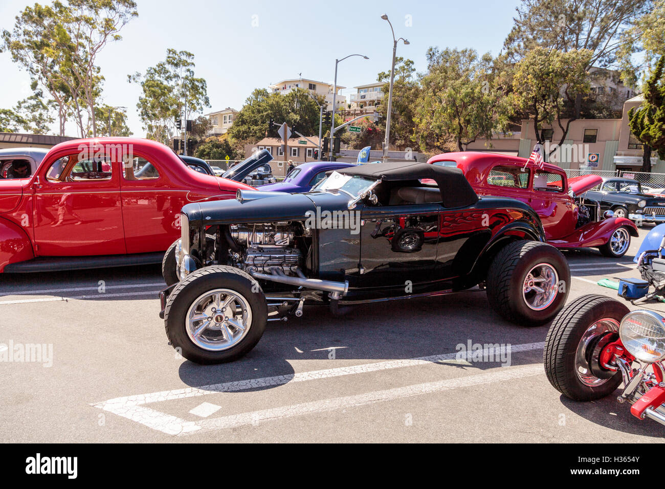
M557 146L563 131L558 124L545 129L545 153L555 149L547 161L565 169L577 170L630 170L642 168L642 145L628 128L628 110L644 101L642 95L634 96L623 106L620 119L578 119L571 122L561 148ZM565 127L566 121L563 121ZM495 134L491 140L478 140L469 144L469 150L491 151L528 158L535 144L533 120L523 120L520 132ZM665 162L658 160L654 152L651 158L652 172L665 173Z

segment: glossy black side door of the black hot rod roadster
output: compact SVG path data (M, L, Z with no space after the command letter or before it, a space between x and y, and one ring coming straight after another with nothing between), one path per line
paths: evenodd
M405 287L437 278L441 204L364 207L360 287Z

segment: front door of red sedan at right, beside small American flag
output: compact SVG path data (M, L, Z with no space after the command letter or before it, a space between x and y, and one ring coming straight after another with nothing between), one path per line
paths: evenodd
M577 217L563 172L535 170L531 192L531 208L541 219L548 240L562 238L575 231Z

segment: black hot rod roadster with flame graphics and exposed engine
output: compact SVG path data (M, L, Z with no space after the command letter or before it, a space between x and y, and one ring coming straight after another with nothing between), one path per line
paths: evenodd
M567 261L545 244L537 214L517 200L479 199L457 168L344 168L307 194L239 190L235 200L188 204L181 222L180 282L160 294L160 315L171 344L196 363L245 355L266 321L300 317L306 302L341 313L479 285L506 319L541 325L569 290Z

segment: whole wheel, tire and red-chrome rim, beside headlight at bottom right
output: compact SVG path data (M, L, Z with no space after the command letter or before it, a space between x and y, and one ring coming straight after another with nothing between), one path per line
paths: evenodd
M547 332L543 361L547 380L574 401L593 401L616 391L621 374L602 369L597 353L618 337L629 309L604 295L583 295L561 309ZM598 377L599 376L599 377Z

